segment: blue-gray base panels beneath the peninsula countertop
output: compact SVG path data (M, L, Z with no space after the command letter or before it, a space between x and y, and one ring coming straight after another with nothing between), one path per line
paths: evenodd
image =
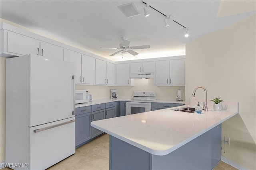
M110 136L110 170L212 170L221 159L221 124L157 156Z

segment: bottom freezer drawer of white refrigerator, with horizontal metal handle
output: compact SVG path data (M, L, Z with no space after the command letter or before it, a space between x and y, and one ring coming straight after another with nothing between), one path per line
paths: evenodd
M75 117L29 127L28 169L42 170L75 153Z

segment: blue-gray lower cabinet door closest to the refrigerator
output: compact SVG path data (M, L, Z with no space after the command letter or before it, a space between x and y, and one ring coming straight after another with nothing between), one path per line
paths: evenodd
M76 116L76 146L92 138L91 113Z

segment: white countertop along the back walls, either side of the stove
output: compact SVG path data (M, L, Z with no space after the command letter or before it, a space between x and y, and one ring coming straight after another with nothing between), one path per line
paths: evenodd
M85 107L85 106L91 106L91 105L98 105L98 104L102 104L102 103L109 103L109 102L113 102L113 101L128 101L128 100L131 100L131 99L127 99L127 98L96 99L96 100L92 100L92 102L89 102L89 103L76 104L76 108L78 108L78 107ZM180 104L185 104L185 101L176 101L176 100L154 100L154 101L151 101L151 103L180 103Z

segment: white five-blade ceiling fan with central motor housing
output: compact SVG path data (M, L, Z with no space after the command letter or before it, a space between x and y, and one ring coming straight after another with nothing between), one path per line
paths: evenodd
M130 47L130 41L128 40L127 37L122 37L122 42L119 44L119 47L117 48L108 48L108 47L100 47L100 48L104 48L104 49L121 49L113 54L111 54L110 56L114 56L118 53L123 53L123 52L128 52L132 55L138 55L137 52L133 51L132 49L145 49L145 48L150 48L150 45L138 45L138 46L133 46Z

